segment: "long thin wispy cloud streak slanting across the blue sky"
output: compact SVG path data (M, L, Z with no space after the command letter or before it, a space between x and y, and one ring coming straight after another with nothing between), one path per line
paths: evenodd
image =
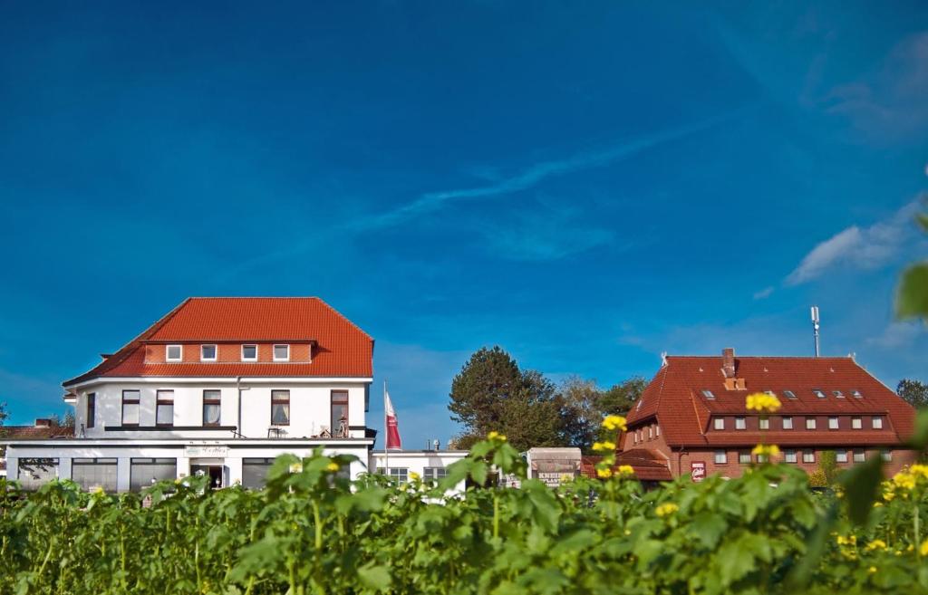
M728 118L740 111L741 109L738 109L721 116L677 126L676 128L625 139L614 146L598 151L586 151L569 158L541 161L509 177L500 177L492 184L427 192L395 209L361 219L353 223L352 227L358 230L393 227L419 215L441 209L449 202L504 196L528 190L554 176L599 168L635 157L648 149L711 128L724 120L728 120Z

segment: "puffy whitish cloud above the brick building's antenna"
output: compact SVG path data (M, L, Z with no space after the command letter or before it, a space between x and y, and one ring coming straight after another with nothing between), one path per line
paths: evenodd
M812 248L799 266L786 277L786 285L800 285L840 265L875 269L892 260L910 238L915 226L912 218L919 209L913 200L889 219L870 227L852 225Z

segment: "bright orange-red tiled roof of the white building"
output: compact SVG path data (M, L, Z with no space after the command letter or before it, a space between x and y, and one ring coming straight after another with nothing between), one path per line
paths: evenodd
M147 363L150 342L315 341L310 363ZM93 370L100 376L362 376L374 340L318 297L190 297Z

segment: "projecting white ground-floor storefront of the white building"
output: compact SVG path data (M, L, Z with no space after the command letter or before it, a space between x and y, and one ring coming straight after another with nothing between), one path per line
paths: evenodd
M124 492L190 475L208 476L213 487L240 484L260 488L277 456L292 453L305 457L320 446L329 456L354 455L357 460L341 472L354 479L368 471L373 439L72 439L7 444L7 478L18 479L27 489L58 478L71 479L84 489Z

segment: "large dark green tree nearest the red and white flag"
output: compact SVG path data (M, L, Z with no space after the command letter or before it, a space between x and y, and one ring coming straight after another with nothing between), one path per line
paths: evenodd
M562 399L541 373L522 371L502 348L480 348L451 383L451 419L464 426L459 449L496 431L516 449L561 446Z

